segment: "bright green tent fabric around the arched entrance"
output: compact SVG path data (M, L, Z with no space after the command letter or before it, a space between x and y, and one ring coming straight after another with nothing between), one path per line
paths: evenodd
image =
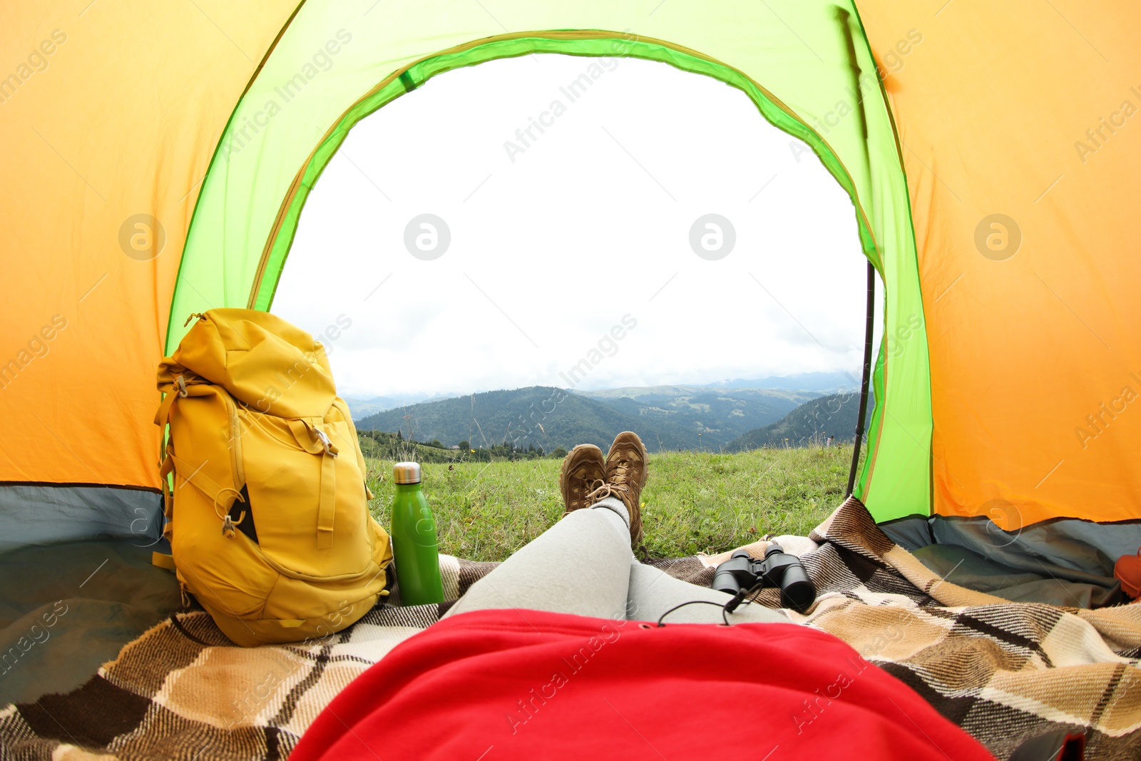
M908 343L890 369L882 348L876 361L871 454L856 494L879 520L930 512L930 377L925 337L913 329L923 303L907 184L853 5L687 5L652 15L637 34L575 29L585 19L590 29L626 29L630 9L608 2L520 2L495 17L478 3L440 15L431 3L395 13L371 6L306 2L237 105L202 184L168 351L184 334L184 315L270 308L309 191L353 126L385 104L437 74L496 58L657 60L742 90L761 116L807 143L852 197L864 251L888 284L884 331L906 333ZM754 33L743 34L746 26ZM528 31L536 29L575 31Z

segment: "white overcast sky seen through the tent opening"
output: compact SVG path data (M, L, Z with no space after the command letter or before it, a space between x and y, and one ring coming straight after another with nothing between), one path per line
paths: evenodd
M691 235L706 214L729 225ZM858 378L864 283L848 196L744 94L542 55L443 74L361 122L273 310L315 334L348 324L324 342L358 398L566 388L582 359L581 389Z

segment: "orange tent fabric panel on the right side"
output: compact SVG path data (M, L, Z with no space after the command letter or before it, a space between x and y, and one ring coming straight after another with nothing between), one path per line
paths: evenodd
M934 511L1008 529L1141 517L1127 221L1141 209L1141 6L858 5L877 52L923 35L884 84L926 313ZM1017 226L1000 220L1002 250L987 246L1002 244L993 214Z

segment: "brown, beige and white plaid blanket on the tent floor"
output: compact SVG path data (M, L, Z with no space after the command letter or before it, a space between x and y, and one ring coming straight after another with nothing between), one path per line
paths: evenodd
M849 500L808 537L779 537L819 590L793 621L831 632L1006 759L1065 728L1090 759L1141 758L1141 605L1009 602L928 570ZM763 554L768 542L745 549ZM709 585L728 557L649 560ZM448 598L495 564L444 557ZM775 590L761 605L778 607ZM123 648L81 688L0 710L0 759L284 759L334 695L448 604L379 607L306 646L238 648L201 612Z

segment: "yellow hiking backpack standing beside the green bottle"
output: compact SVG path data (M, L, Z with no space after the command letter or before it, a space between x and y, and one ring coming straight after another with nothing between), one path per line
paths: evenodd
M264 311L195 317L159 365L173 559L155 562L238 645L327 637L388 594L393 553L324 347Z

